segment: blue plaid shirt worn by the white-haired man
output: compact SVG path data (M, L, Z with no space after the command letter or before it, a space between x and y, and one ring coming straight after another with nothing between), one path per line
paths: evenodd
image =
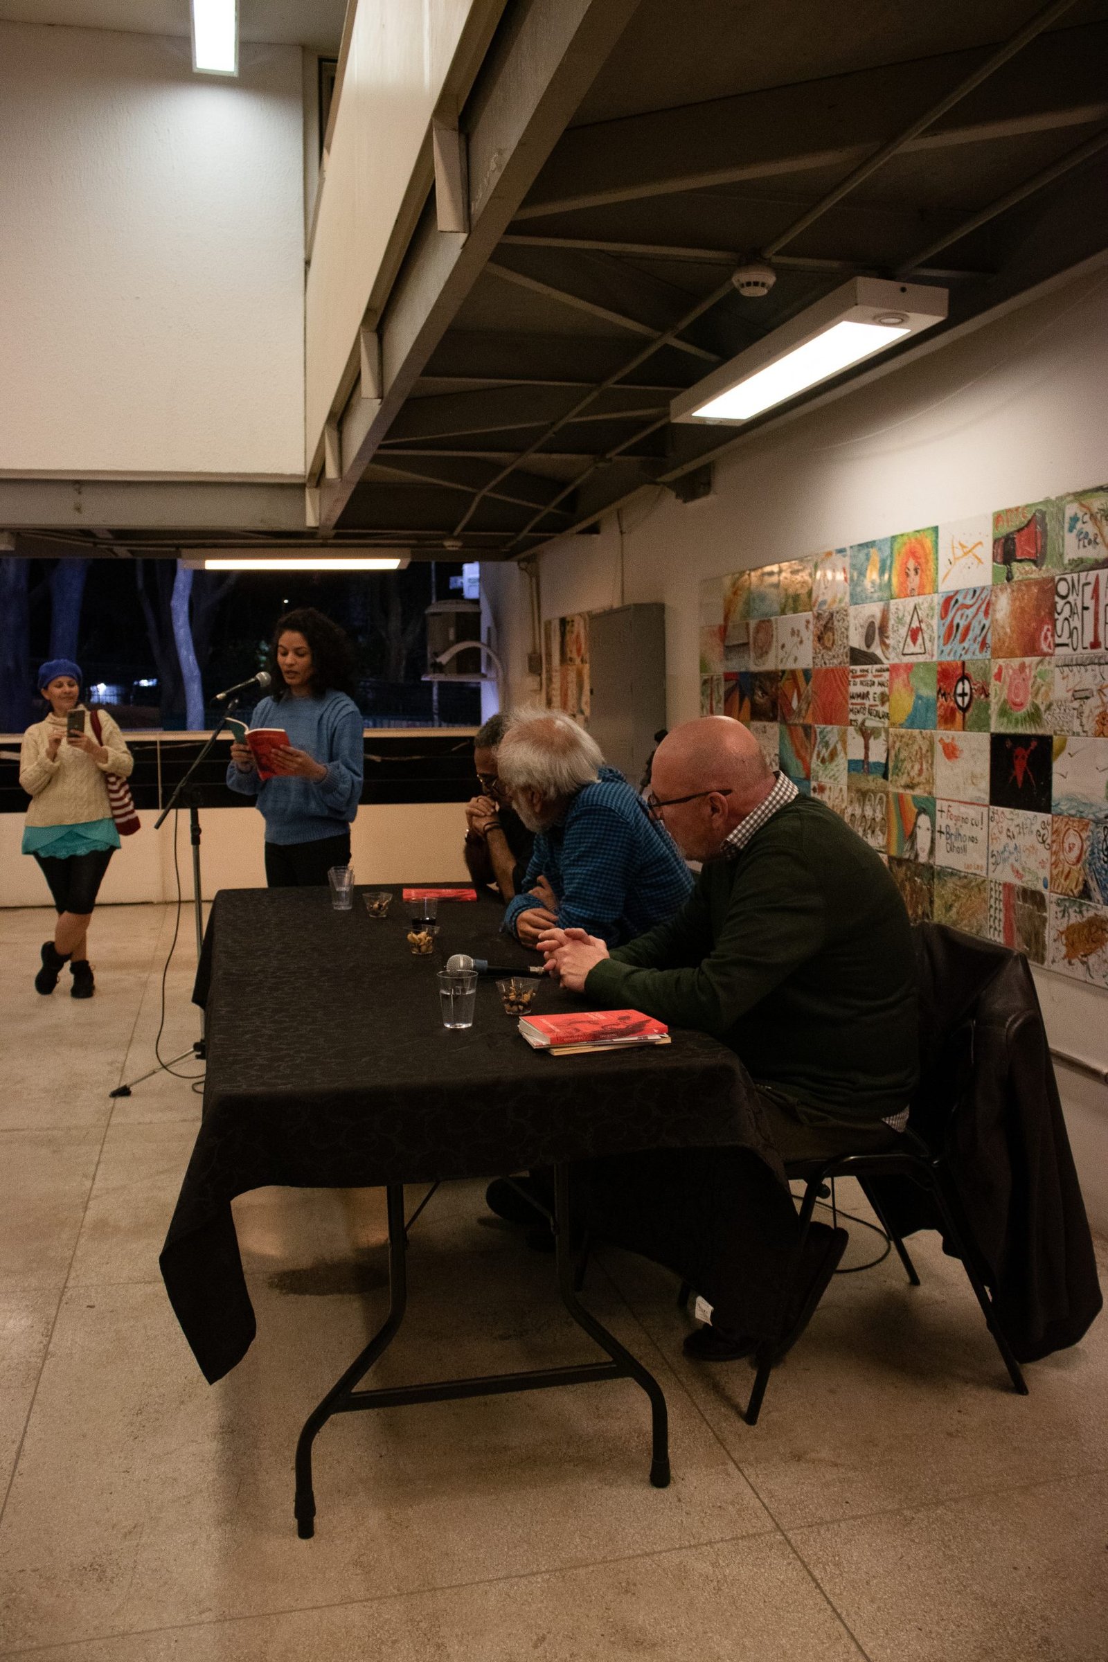
M615 768L601 768L598 781L535 838L523 889L505 907L507 934L515 934L520 912L540 904L527 892L538 878L558 896L560 929L586 929L608 946L673 917L693 889L669 833Z

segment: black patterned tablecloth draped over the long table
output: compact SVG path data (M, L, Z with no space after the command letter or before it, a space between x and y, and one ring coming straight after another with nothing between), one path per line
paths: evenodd
M209 1381L254 1338L231 1200L249 1188L488 1177L635 1150L731 1145L781 1177L749 1079L724 1045L550 1057L482 979L473 1027L442 1027L435 971L467 951L525 969L490 899L444 901L434 957L392 916L336 912L326 889L216 896L198 976L208 1012L204 1117L161 1253L169 1300ZM543 982L537 1010L580 1009ZM777 1183L774 1182L774 1188Z

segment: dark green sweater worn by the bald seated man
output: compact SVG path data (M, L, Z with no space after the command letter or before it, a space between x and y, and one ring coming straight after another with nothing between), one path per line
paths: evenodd
M756 1080L836 1119L900 1110L917 1079L904 901L880 858L797 796L684 907L598 964L585 992L731 1045Z

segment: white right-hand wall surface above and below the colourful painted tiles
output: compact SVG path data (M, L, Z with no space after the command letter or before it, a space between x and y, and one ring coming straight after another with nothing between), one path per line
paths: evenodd
M540 557L542 615L623 600L666 607L669 726L699 715L698 583L905 525L934 525L1108 479L1108 269L885 376L751 435L716 464L714 494L681 505L648 492L600 537ZM527 583L483 567L508 663L510 701L527 681ZM1037 972L1053 1044L1108 1067L1108 994ZM1108 1232L1108 1089L1058 1072L1096 1227Z

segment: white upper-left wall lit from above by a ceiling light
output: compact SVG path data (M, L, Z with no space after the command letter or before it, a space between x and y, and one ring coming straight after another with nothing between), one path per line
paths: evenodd
M0 475L299 479L297 47L0 23Z

